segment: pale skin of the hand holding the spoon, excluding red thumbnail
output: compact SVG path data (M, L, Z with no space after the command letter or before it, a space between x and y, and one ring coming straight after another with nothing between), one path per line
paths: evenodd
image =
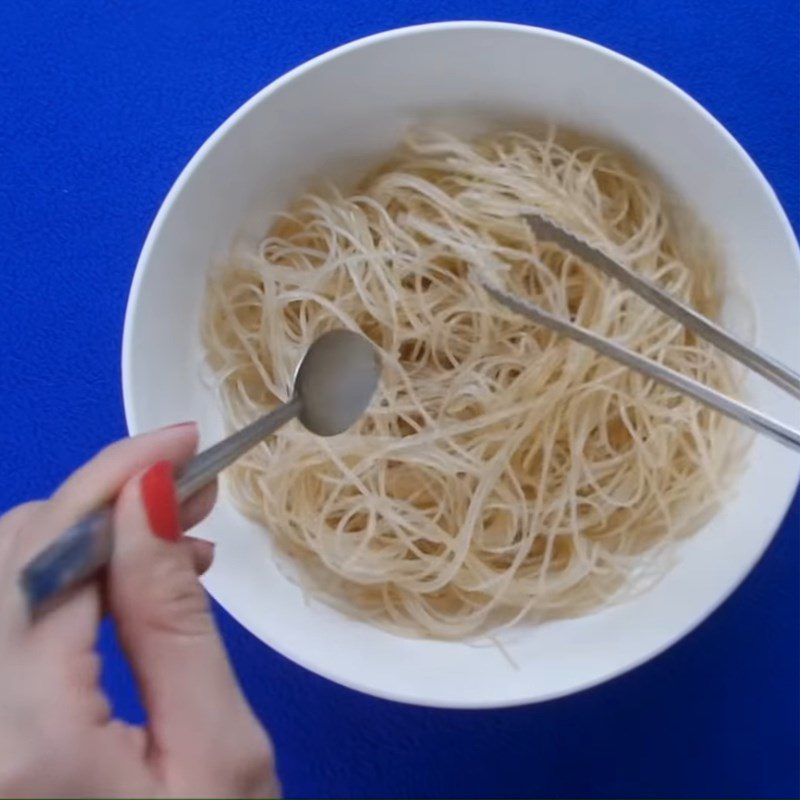
M0 797L275 797L272 745L236 683L198 580L206 542L152 535L139 479L185 463L193 425L111 445L43 502L0 518ZM181 511L203 519L215 492ZM106 574L34 623L23 564L81 516L115 502ZM113 718L94 645L109 613L147 710L145 726Z

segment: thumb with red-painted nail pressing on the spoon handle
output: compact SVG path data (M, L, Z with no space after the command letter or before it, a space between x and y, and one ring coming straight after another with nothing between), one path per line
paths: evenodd
M266 734L228 662L182 539L172 465L123 488L108 600L148 712L150 752L179 794L249 794L272 776ZM217 736L221 721L225 735Z

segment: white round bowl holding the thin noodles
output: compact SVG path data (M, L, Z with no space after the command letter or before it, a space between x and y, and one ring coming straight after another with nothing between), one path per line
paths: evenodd
M716 235L752 301L756 341L800 367L800 254L769 185L696 102L616 53L571 36L455 22L371 36L304 64L245 103L198 151L147 237L131 289L122 357L132 433L197 419L223 433L199 379L198 314L206 270L238 236L327 176L352 178L409 123L460 132L552 120L621 143L661 174ZM760 380L749 398L784 420L792 402ZM656 588L625 605L502 635L497 648L413 641L307 605L276 567L267 533L223 497L203 534L218 542L211 594L298 664L346 686L411 703L492 707L592 686L684 636L742 581L791 500L800 458L757 439L736 498L682 546Z

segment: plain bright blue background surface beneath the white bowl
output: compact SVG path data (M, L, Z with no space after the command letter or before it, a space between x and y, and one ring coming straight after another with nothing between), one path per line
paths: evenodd
M797 230L796 0L4 0L0 508L47 494L124 435L128 286L161 200L206 137L311 56L453 18L556 28L661 72L733 132ZM528 708L375 700L294 666L218 616L275 739L288 795L797 796L798 528L795 498L755 572L667 654ZM102 649L118 713L141 719L110 629Z

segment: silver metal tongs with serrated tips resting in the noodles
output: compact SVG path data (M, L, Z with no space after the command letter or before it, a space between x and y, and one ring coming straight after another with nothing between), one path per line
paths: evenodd
M569 250L587 264L597 267L601 272L619 281L623 286L634 291L639 297L663 311L667 316L680 322L700 338L705 339L754 372L763 375L793 397L800 399L800 375L798 373L765 353L749 347L693 308L676 300L649 281L640 278L627 267L618 264L605 253L592 247L575 234L558 227L550 220L529 214L525 216L525 221L541 241L553 242ZM481 279L481 285L495 300L511 311L521 314L555 333L591 347L601 355L676 389L704 403L709 408L738 420L754 431L765 433L787 447L800 450L800 431L790 428L738 400L721 394L693 378L688 378L669 367L627 350L574 322L551 314L529 300L509 294L486 280Z

